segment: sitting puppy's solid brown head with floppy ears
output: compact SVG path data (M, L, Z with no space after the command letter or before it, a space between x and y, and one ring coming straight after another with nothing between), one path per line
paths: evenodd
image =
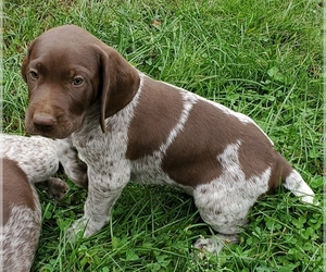
M99 125L136 95L139 75L114 49L74 25L52 28L35 39L22 64L28 85L25 116L32 135L65 138L77 131L93 104Z

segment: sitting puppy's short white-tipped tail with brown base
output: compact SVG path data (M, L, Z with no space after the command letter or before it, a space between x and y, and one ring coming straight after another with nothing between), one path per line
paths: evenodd
M281 182L285 188L300 197L303 202L314 203L315 194L311 187L281 154L277 154L279 156L278 171L281 171Z

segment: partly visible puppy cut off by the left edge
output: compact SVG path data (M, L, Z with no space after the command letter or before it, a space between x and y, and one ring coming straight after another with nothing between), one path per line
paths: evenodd
M51 177L59 159L54 141L0 134L2 161L1 271L29 271L41 230L41 209L34 183L47 181L60 200L67 185Z

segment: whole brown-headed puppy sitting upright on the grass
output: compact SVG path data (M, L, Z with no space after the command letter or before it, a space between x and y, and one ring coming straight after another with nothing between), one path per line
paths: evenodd
M191 194L202 219L226 235L239 233L258 198L280 183L313 202L312 189L250 118L148 77L77 26L35 39L22 75L27 132L71 136L88 165L85 213L72 232L101 230L129 180ZM211 244L197 246L216 250Z

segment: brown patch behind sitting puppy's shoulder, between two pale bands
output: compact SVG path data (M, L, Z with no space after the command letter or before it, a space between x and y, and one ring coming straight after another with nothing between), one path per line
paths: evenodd
M174 87L145 77L128 131L126 158L137 160L158 150L178 123L181 110L183 98Z

